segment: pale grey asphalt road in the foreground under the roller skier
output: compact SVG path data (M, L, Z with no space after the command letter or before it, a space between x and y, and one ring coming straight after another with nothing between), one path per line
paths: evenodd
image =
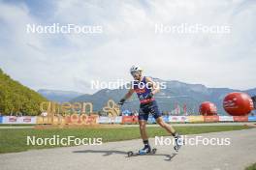
M1 170L243 170L256 162L256 128L200 134L206 138L230 138L225 146L183 146L176 154L171 145L156 146L150 156L127 157L130 150L142 147L141 140L34 150L0 155ZM187 138L194 138L189 135ZM170 137L171 138L171 137ZM166 139L166 138L165 138ZM155 139L150 139L154 145Z

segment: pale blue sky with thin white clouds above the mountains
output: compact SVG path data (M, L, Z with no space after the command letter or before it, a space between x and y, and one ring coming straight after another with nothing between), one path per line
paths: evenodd
M94 93L92 80L164 80L256 87L254 0L0 0L0 68L34 90ZM27 25L100 26L100 33L27 33ZM226 32L156 32L180 25ZM159 27L158 27L159 28Z

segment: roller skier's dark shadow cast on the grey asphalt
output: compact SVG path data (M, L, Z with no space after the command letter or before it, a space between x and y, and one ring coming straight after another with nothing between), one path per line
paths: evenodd
M84 151L74 151L73 153L80 153L80 154L86 154L86 153L96 153L96 154L103 154L102 156L111 156L113 154L118 155L125 155L127 156L127 152L124 151L117 151L117 150L84 150ZM145 156L165 156L166 158L164 160L170 161L172 158L174 158L177 154L174 153L172 155L165 155L165 154L154 154L154 155L145 155ZM137 155L135 155L137 156ZM139 156L139 155L138 155ZM129 157L130 158L130 157Z

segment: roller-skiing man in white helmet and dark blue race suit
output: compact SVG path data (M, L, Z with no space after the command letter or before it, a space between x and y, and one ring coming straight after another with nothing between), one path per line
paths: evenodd
M159 86L150 78L142 75L142 69L139 66L133 66L130 69L134 81L128 93L124 96L123 99L119 101L119 104L122 105L126 99L129 99L134 92L137 93L137 96L141 102L140 111L139 111L139 124L140 132L142 139L144 141L144 149L140 150L139 153L144 155L151 152L150 145L148 143L148 137L145 130L145 125L148 119L148 115L152 114L156 123L162 128L165 128L170 134L172 134L176 139L176 151L181 146L181 138L177 135L176 130L166 124L162 119L162 114L159 111L154 95L160 91Z

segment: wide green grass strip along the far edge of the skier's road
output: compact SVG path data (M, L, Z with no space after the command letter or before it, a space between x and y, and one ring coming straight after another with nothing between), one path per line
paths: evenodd
M202 127L176 127L180 134L199 134L217 131L229 131L246 129L245 126L202 126ZM148 135L166 136L169 135L164 129L158 127L148 127ZM140 138L140 131L137 127L127 128L8 128L0 129L0 153L16 153L33 149L61 147L59 145L26 145L27 136L36 138L49 138L53 135L59 135L60 138L75 136L76 138L99 138L103 143L121 140L130 140ZM69 145L73 146L73 145Z

